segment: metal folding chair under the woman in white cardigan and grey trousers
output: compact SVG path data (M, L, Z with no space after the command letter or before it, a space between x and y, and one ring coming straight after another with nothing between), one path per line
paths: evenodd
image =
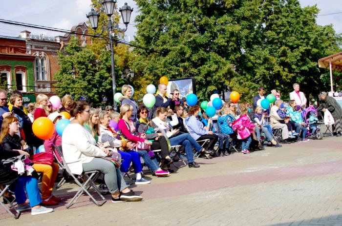
M56 150L58 152L58 154L61 156L63 162L63 166L64 169L66 170L66 172L74 179L74 181L76 182L77 185L80 186L80 189L76 192L75 196L71 199L71 201L66 205L66 208L69 208L71 205L74 205L76 203L76 201L81 197L81 195L85 192L90 198L91 200L98 206L104 205L107 200L106 198L101 194L101 191L99 190L99 188L94 184L94 181L99 177L100 175L100 171L98 170L92 170L92 171L87 171L87 172L83 172L80 176L83 179L83 184L78 180L77 177L75 177L75 175L70 171L68 165L65 163L64 157L63 157L63 151L62 151L62 146L56 146ZM101 197L102 201L97 201L89 192L89 188L93 187L95 189L95 191L97 192L97 194Z

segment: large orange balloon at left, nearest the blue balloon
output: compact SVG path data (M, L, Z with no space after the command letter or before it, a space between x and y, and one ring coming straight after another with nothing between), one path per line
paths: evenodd
M48 140L52 137L55 127L47 117L39 117L32 123L33 133L42 140Z

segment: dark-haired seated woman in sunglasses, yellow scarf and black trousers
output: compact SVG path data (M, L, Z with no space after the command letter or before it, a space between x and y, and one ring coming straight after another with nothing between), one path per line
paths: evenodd
M149 110L145 106L140 106L138 109L138 120L135 124L136 131L140 134L146 134L146 138L152 142L151 149L161 149L162 165L170 165L173 161L170 158L169 144L162 133L156 133L150 124L147 116Z

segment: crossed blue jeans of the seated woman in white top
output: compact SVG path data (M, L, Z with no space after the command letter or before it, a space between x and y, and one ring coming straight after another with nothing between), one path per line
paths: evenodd
M185 148L185 153L187 153L187 161L188 163L193 162L193 153L192 153L192 146L196 151L201 151L202 146L199 145L189 133L183 133L176 137L172 137L169 139L170 145L183 145Z

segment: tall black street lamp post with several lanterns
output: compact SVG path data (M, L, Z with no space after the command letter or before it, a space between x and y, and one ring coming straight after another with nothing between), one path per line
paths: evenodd
M100 33L95 32L95 35L101 36L105 30L107 30L108 32L109 44L110 44L111 77L112 77L112 83L113 83L112 85L113 102L114 102L114 110L117 110L117 104L114 101L114 95L116 93L116 82L115 82L115 71L114 71L114 46L113 46L113 34L112 33L114 30L117 30L119 32L125 32L127 30L127 25L129 23L130 15L133 11L133 8L128 6L127 2L125 2L125 5L119 9L122 20L124 24L126 25L125 28L120 28L119 24L116 21L112 21L111 19L111 16L114 13L116 0L103 0L101 3L108 16L108 21L102 27L102 31ZM94 29L94 31L96 31L98 27L100 15L94 9L91 9L91 11L88 13L88 15L86 15L86 17L89 19L91 27Z

